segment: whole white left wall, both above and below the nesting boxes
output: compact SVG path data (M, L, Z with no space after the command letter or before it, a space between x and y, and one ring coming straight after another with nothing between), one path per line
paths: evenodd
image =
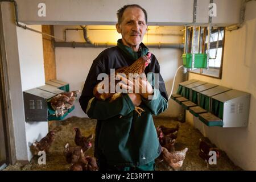
M42 31L42 26L29 26L35 30ZM43 60L43 40L42 35L23 28L16 27L18 38L18 52L20 64L20 77L22 82L22 91L36 88L44 85L44 60ZM20 108L23 110L24 109ZM32 142L36 139L41 139L48 133L47 122L25 122L25 117L20 118L25 133L26 133L26 146L16 145L16 152L19 154L26 151L27 156L18 158L18 160L30 160L32 158L30 148ZM17 136L17 138L23 138ZM25 147L25 148L24 148Z

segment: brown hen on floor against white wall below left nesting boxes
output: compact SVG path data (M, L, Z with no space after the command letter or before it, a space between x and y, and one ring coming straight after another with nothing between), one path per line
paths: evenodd
M48 152L49 148L52 145L52 142L55 138L55 132L49 131L49 133L46 135L46 137L43 137L39 142L35 141L30 146L31 152L33 155L38 155L39 151L45 151Z

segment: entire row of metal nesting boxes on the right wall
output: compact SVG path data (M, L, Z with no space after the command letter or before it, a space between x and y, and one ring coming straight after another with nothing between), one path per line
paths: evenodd
M207 126L247 126L250 93L189 80L180 83L177 94L171 98Z

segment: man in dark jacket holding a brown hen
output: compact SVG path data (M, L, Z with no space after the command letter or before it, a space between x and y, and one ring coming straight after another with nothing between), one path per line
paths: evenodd
M139 86L146 93L125 93L113 102L97 100L93 88L101 80L100 73L110 74L110 69L130 66L139 57L147 55L148 48L142 43L147 31L147 13L139 5L126 5L117 12L116 28L122 35L117 46L105 49L93 61L79 99L89 118L97 119L94 156L100 170L147 170L155 169L155 159L161 152L152 115L162 113L168 107L168 96L160 75L156 57L145 73L158 73L157 87L142 81ZM123 85L125 86L125 85ZM148 99L154 94L154 100ZM141 116L135 106L144 111ZM122 117L120 117L122 116Z

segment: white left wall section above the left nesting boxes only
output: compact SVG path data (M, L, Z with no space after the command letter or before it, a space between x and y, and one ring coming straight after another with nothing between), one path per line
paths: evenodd
M29 26L41 31L40 25ZM22 90L44 85L44 57L42 35L17 27Z

